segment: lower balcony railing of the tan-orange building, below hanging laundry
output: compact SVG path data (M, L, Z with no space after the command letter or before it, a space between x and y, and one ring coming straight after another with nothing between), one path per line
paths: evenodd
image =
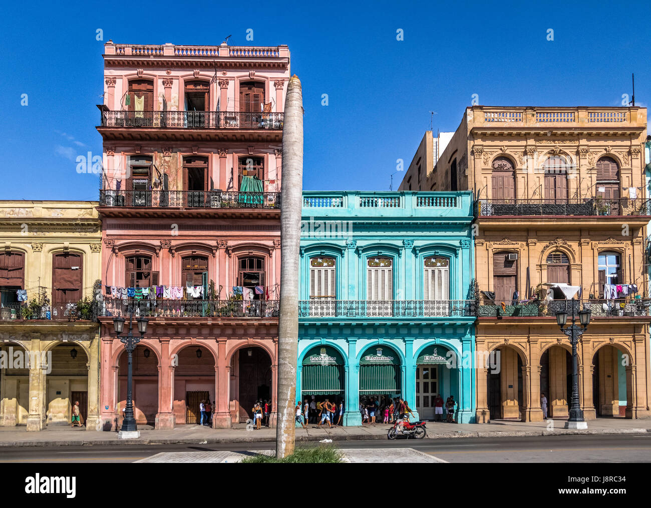
M479 317L555 317L557 312L578 316L579 310L589 309L592 317L651 316L651 299L633 298L628 300L553 300L523 302L505 305L492 301L483 301L478 306Z

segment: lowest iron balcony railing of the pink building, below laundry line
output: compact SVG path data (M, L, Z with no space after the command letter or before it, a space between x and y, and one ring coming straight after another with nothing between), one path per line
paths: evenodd
M277 300L122 300L100 302L100 316L142 317L278 317Z

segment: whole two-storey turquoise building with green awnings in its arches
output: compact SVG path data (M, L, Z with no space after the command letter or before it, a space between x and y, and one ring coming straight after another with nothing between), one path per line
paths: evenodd
M297 400L475 418L472 193L303 193ZM376 418L382 421L381 417Z

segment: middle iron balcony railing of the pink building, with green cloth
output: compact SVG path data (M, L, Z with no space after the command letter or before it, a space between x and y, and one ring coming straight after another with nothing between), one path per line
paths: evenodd
M100 206L159 208L280 208L281 193L100 190Z

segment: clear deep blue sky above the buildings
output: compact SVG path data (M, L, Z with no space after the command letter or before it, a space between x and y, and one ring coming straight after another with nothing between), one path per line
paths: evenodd
M287 44L292 74L303 83L307 190L388 190L396 159L407 167L429 128L429 112L436 111L434 131L454 131L473 94L482 105L620 105L631 72L637 105L651 93L651 30L641 1L229 8L161 0L113 4L113 12L107 5L3 7L0 199L98 198L96 176L77 174L74 162L102 153L95 126L104 42L96 29L104 41L128 44L217 45L229 34L233 46ZM249 28L253 42L245 39Z

